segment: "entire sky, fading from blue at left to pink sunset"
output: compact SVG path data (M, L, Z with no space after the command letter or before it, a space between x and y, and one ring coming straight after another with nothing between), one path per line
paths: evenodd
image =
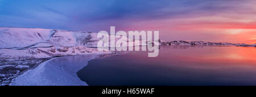
M256 1L0 0L0 27L159 30L166 41L256 43Z

